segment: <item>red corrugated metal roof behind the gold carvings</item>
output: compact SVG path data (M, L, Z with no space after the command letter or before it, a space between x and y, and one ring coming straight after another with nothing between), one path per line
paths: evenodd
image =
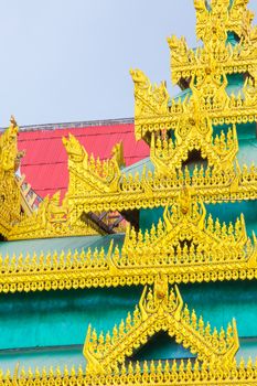
M42 197L67 189L67 154L62 138L68 132L75 136L87 152L100 159L110 157L113 147L122 141L126 165L133 164L149 156L149 147L143 141L136 142L133 124L89 126L54 130L21 131L19 150L25 150L21 173Z

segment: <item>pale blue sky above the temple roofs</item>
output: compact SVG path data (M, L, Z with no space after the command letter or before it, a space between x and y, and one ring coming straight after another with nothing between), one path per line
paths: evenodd
M195 46L194 24L193 0L2 0L0 126L132 117L129 68L169 84L167 36Z

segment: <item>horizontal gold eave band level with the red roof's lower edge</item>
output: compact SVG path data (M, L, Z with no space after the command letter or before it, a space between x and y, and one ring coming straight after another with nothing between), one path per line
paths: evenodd
M84 194L78 194L76 190L76 185L83 186L85 183L82 172L77 171L76 185L69 186L67 201L72 207L79 207L78 213L153 208L174 203L184 185L192 186L195 200L202 199L206 203L256 200L256 175L255 165L244 165L240 170L237 162L234 170L204 170L195 165L192 173L188 168L179 168L165 175L144 169L141 175L122 174L116 192L95 191L94 195L86 195L86 184Z

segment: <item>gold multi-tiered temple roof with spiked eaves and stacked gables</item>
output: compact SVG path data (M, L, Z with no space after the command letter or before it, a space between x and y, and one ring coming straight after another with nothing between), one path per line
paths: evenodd
M82 368L19 373L18 366L12 379L10 373L2 377L3 385L256 384L251 360L247 365L236 363L240 325L237 331L233 319L225 330L212 330L205 318L196 317L197 310L183 305L176 287L191 282L194 293L195 282L235 281L238 288L242 280L257 278L256 236L247 233L244 215L234 221L227 215L226 222L207 215L210 203L251 207L257 199L256 165L245 163L249 154L245 160L239 157L242 149L244 154L257 146L257 28L247 2L195 0L196 34L203 46L190 50L184 39L168 40L172 81L188 89L183 97L171 99L164 82L151 86L141 71L131 71L136 139L150 147L150 158L135 168L125 168L121 142L105 160L90 156L75 131L69 132L63 138L68 165L63 200L56 192L34 213L23 213L14 176L19 159L14 120L1 137L2 236L45 238L46 244L47 238L85 236L84 247L73 251L58 247L19 256L14 250L9 256L13 244L6 244L1 291L74 289L76 293L85 288L144 285L132 314L114 324L113 333L88 326L85 373ZM237 94L229 88L233 79ZM8 186L10 194L4 195ZM125 236L106 235L93 222L92 214L114 211L131 222ZM186 365L133 363L135 353L161 331L190 350Z

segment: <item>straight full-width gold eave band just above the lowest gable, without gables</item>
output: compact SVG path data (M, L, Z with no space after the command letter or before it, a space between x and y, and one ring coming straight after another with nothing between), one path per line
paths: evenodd
M0 293L151 285L159 272L168 275L171 285L254 280L257 257L253 246L247 246L251 257L246 259L190 253L181 253L178 259L163 254L159 258L150 249L147 258L146 255L132 258L122 255L118 247L111 257L111 245L107 256L103 249L6 255L0 256Z

